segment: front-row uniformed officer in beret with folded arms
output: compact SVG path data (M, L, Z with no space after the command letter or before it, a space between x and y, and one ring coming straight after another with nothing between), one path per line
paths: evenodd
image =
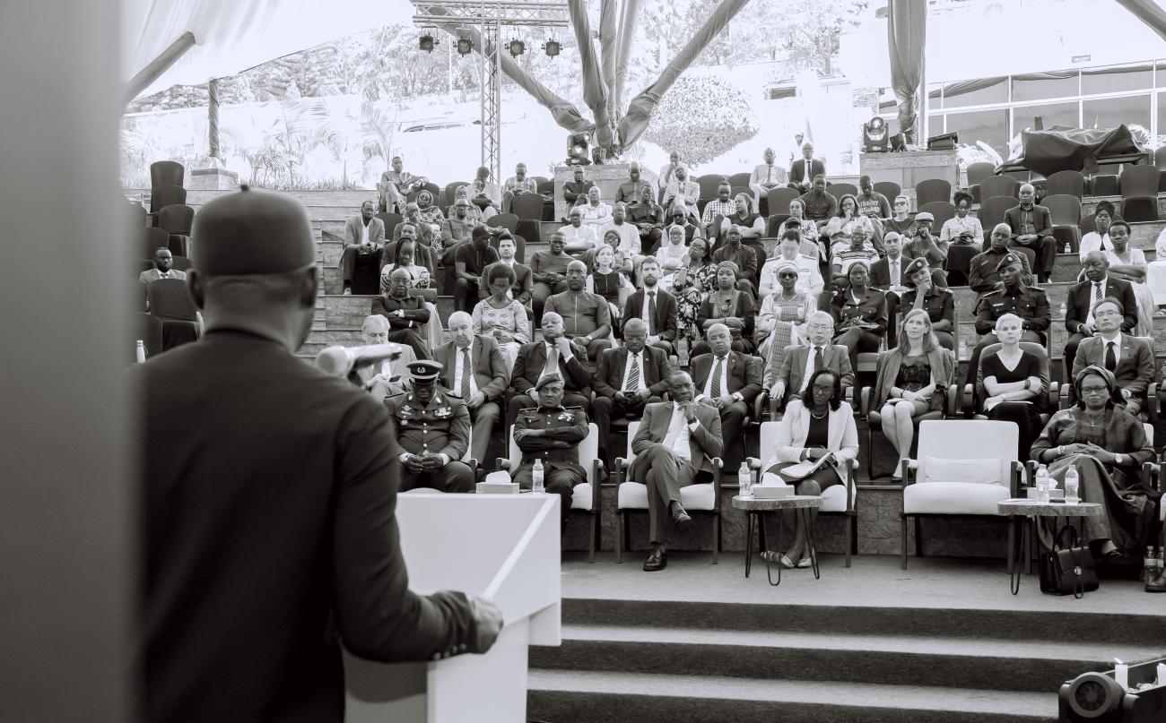
M539 395L536 409L524 409L514 420L514 444L522 451L522 462L513 473L521 489L531 489L534 461L542 460L542 484L547 494L562 497L559 510L567 522L571 509L571 490L586 481L580 467L580 442L588 434L586 412L577 406L563 406L563 377L548 374L534 385Z

